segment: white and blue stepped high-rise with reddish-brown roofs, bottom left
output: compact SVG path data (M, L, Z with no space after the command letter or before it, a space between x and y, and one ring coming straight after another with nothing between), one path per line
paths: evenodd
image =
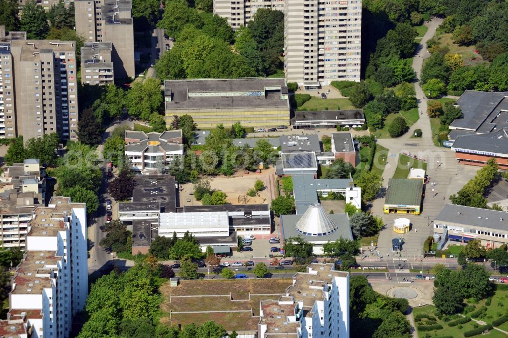
M27 232L0 332L68 337L88 295L86 205L53 197L48 207L35 208Z

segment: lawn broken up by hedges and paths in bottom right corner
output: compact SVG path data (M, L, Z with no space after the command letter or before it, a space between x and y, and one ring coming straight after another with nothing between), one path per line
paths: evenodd
M475 318L475 319L481 320L481 321L484 321L487 323L492 323L492 321L494 319L497 319L497 318L505 315L506 313L508 313L508 311L505 309L507 299L508 299L508 291L505 291L505 290L495 291L495 294L492 296L491 304L490 304L490 306L487 307L487 311L484 314L480 315L480 317ZM479 309L480 307L485 306L485 301L486 301L485 299L482 299L477 304L468 303L467 305L472 305L475 307L475 309ZM412 310L414 316L416 316L417 314L421 314L421 313L426 313L426 314L430 314L430 315L434 316L435 311L436 311L436 308L431 305L426 305L424 307L414 308ZM434 318L437 320L438 324L442 325L443 329L418 332L418 336L420 338L429 338L427 333L430 334L430 338L444 336L444 335L450 335L450 336L454 336L454 337L462 337L465 331L473 328L473 323L474 323L474 321L471 320L470 322L468 322L466 324L462 324L462 328L459 328L458 326L450 327L442 319L439 319L436 316L434 316ZM508 330L508 322L501 324L499 326L499 328L507 331ZM484 336L492 337L492 338L506 337L506 335L504 333L502 333L498 330L495 330L495 329L491 330L488 334L475 335L475 337L484 337Z

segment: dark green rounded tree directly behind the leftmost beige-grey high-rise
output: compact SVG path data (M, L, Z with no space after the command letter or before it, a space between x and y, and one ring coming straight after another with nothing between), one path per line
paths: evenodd
M21 30L26 31L28 40L44 40L49 31L48 19L42 6L28 0L21 13Z

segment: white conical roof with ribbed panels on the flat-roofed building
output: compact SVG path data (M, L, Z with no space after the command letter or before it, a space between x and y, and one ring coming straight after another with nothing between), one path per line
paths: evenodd
M332 233L337 229L337 226L320 203L313 203L296 222L296 229L304 235L322 236Z

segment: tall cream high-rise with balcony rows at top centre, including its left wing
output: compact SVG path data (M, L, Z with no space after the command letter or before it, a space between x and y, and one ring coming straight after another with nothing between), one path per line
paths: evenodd
M236 29L259 8L284 11L284 72L305 89L360 81L362 1L214 0L214 13Z

